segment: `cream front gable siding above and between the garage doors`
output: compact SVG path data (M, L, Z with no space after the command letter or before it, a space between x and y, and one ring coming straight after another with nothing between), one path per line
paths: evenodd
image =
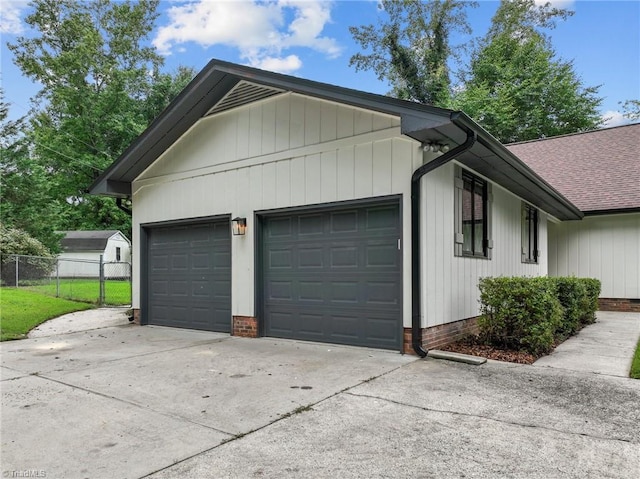
M420 164L420 145L400 134L399 118L287 93L200 120L134 181L133 231L182 218L246 217L247 235L232 242L232 311L253 316L255 211L402 195L407 244L411 174ZM404 248L405 285L409 255ZM410 300L406 286L405 324Z

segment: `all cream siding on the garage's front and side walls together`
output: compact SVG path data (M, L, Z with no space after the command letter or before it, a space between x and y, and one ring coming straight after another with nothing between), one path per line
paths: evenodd
M196 123L134 181L133 231L140 224L183 218L246 217L248 234L232 242L232 312L253 316L255 211L402 195L401 239L410 245L411 175L422 162L419 143L400 134L399 118L287 93ZM522 264L520 201L497 187L493 259L454 257L453 185L452 164L423 180L425 326L476 316L482 276L547 271L546 216L540 215L542 260ZM403 324L409 327L411 252L402 251Z

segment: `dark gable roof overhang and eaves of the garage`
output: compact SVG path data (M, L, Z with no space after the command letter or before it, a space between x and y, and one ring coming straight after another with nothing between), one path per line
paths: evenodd
M257 99L293 92L400 118L400 131L419 142L450 148L476 134L456 160L559 219L582 213L498 140L459 111L398 100L326 83L212 60L94 183L91 194L131 196L131 182L198 120Z

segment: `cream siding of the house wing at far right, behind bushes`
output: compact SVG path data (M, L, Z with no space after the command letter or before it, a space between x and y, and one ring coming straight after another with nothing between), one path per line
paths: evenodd
M640 299L640 213L550 223L549 275L598 278L602 298Z

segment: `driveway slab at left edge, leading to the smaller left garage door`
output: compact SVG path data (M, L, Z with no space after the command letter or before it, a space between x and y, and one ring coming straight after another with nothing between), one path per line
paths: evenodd
M84 369L109 361L228 339L228 334L125 325L2 343L2 366L26 374Z

